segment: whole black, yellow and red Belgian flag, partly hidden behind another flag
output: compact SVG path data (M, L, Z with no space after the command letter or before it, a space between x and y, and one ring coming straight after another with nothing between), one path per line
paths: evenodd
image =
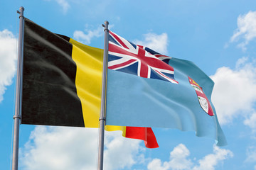
M25 18L21 123L98 128L103 50ZM151 128L106 126L158 147Z

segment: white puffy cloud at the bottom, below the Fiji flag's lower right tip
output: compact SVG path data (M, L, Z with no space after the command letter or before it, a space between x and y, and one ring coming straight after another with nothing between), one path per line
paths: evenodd
M149 162L147 168L149 170L214 170L215 166L222 163L224 159L233 157L233 153L230 150L220 149L215 145L213 146L213 154L208 154L203 159L199 159L198 163L193 163L191 159L188 159L189 155L190 152L186 146L180 144L170 153L169 162L162 163L160 159L153 159Z

